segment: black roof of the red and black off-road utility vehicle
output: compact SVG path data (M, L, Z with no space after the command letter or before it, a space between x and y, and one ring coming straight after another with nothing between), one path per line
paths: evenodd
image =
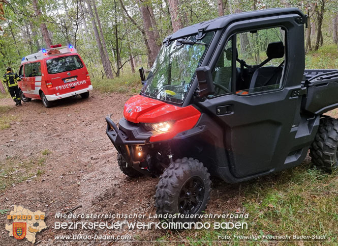
M245 19L253 19L262 16L275 16L275 15L284 15L284 14L297 14L301 17L304 14L297 8L274 8L274 9L264 9L264 10L256 10L250 12L241 12L236 14L230 14L218 17L216 19L200 22L194 25L187 26L186 28L182 28L172 35L167 36L163 42L169 38L169 40L190 36L193 34L197 34L199 30L203 30L203 32L222 29L233 21L245 20Z

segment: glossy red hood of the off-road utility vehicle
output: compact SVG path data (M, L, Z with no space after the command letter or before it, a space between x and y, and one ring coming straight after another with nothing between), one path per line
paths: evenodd
M175 121L171 130L155 133L151 136L150 142L169 140L177 133L193 128L201 116L192 105L179 107L141 95L133 96L125 103L123 114L133 123Z

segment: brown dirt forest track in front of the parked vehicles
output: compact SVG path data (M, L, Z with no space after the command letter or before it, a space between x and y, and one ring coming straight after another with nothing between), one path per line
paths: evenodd
M55 218L55 213L78 206L82 207L74 213L148 215L156 212L153 195L158 179L130 179L122 174L117 166L117 152L105 133L104 117L112 113L114 121L120 119L128 97L94 91L88 99L69 98L57 102L52 108L45 108L40 100L15 107L10 98L0 99L0 105L14 107L8 114L17 116L10 128L0 130L0 169L3 170L9 163L15 166L12 173L1 178L10 178L27 170L32 173L28 179L0 192L0 209L11 210L15 204L31 211L45 212L48 228L36 235L37 241L55 240L55 235L73 233L130 235L131 240L151 240L166 233L164 230L53 229L55 221L67 221ZM271 178L273 176L266 179ZM241 209L241 185L249 186L250 182L230 185L213 181L207 213L236 212L236 209ZM123 220L107 218L96 221L111 223ZM27 245L25 239L18 241L8 236L6 223L10 224L6 214L0 214L0 244ZM82 242L68 244L83 245ZM107 242L95 244L108 245Z

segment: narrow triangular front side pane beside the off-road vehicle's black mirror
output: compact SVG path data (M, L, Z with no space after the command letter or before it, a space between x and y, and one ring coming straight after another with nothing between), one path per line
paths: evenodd
M215 92L212 96L223 95L231 92L231 74L232 74L232 39L230 39L212 71L213 84Z

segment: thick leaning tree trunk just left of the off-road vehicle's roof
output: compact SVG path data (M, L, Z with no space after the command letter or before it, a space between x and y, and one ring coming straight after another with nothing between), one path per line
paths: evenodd
M160 46L158 46L156 44L155 35L153 33L153 28L152 28L152 25L151 25L151 19L150 19L150 15L149 15L147 7L145 7L140 0L139 0L139 6L140 6L141 14L142 14L145 33L147 35L147 41L148 41L148 44L149 44L149 48L151 50L149 60L150 60L151 66L152 66L152 64L156 60L157 53L160 50Z

